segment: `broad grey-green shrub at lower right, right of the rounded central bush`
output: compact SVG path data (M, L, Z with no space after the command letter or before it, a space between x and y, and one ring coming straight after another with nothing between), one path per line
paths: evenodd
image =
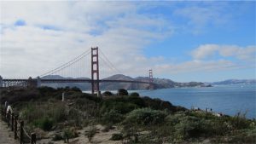
M223 118L196 118L186 112L178 112L166 117L167 127L173 130L175 140L186 140L201 136L226 135L230 132L230 124Z

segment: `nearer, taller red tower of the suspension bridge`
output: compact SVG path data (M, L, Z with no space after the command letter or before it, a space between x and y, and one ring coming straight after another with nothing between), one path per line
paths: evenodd
M91 94L100 91L99 84L99 52L98 47L91 48Z

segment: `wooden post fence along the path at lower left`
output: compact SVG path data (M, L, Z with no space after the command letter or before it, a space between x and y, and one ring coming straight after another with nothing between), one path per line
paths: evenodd
M2 120L8 124L8 127L14 131L15 140L20 140L20 144L36 144L37 143L37 135L35 133L31 133L28 135L24 128L24 121L19 120L18 116L15 113L6 112L6 110L1 107L1 117Z

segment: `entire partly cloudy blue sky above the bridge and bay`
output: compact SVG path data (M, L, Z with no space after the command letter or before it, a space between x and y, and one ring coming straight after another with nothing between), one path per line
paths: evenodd
M0 9L3 78L36 77L95 46L131 77L153 69L179 82L256 78L255 2L1 1Z

